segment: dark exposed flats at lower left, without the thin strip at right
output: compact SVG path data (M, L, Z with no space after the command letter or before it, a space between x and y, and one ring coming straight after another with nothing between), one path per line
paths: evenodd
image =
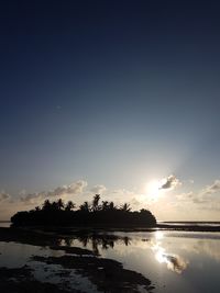
M0 292L82 292L63 280L64 274L68 279L68 274L73 271L76 275L87 278L99 292L140 292L140 288L144 292L151 292L154 289L151 281L142 274L124 269L122 263L116 260L99 257L96 247L94 250L89 250L69 246L70 238L79 237L79 235L84 240L84 237L88 236L88 230L84 233L76 230L75 236L73 234L69 236L67 230L62 229L59 232L42 232L0 228L0 241L47 247L50 250L64 252L59 257L32 256L30 259L30 261L42 263L42 272L50 266L58 264L59 269L56 270L56 274L61 279L58 285L36 280L33 269L28 263L21 268L0 268ZM89 237L92 237L95 244L100 241L99 235L91 233ZM61 246L61 239L66 245ZM117 236L105 236L101 241L108 246L117 239ZM127 237L123 240L128 241Z

